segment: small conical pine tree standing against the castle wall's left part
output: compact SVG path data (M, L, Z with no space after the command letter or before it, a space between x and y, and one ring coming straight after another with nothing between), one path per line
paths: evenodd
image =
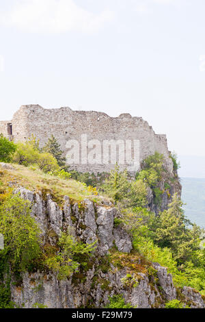
M48 142L42 148L42 151L51 153L52 156L57 160L57 164L61 166L62 169L66 170L68 167L66 166L66 158L63 157L63 151L60 149L59 143L57 143L56 138L51 136Z

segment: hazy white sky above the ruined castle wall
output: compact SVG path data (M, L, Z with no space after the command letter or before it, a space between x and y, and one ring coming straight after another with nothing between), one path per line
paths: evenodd
M204 0L0 0L0 119L25 104L142 116L205 156Z

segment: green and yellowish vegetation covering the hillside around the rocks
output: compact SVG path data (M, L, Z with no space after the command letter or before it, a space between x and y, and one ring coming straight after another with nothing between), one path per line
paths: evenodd
M163 156L155 153L143 160L135 179L127 171L120 172L118 165L111 173L96 177L69 171L55 138L40 149L36 138L15 145L1 136L0 146L0 161L10 162L0 171L0 233L5 236L5 249L0 250L1 307L14 306L10 302L10 270L19 280L21 272L37 269L55 271L64 280L79 267L85 269L95 249L95 243L85 245L71 232L56 236L56 245L43 247L40 227L31 216L31 204L13 195L18 186L40 193L43 198L52 195L59 207L64 205L66 195L79 206L83 206L84 199L100 204L100 196L108 196L107 200L118 209L115 227L122 227L131 236L135 256L167 267L179 295L183 286L205 295L204 230L184 216L180 195L172 194L178 182L174 156L172 174L167 173ZM169 204L163 209L165 195ZM109 260L120 258L126 262L130 256L115 255ZM119 307L119 303L125 305L122 297L110 299L110 307Z

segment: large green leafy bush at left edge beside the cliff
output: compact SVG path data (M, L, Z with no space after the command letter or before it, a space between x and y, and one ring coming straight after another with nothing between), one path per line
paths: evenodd
M29 201L12 195L0 206L0 233L4 236L6 256L13 271L25 271L40 256L40 229L31 216Z

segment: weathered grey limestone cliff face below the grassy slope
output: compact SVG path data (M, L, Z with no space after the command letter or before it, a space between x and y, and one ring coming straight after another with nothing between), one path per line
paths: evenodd
M48 308L105 308L109 303L109 296L121 294L127 303L136 308L163 308L166 301L176 299L176 288L172 275L167 269L157 263L152 264L156 276L141 273L133 274L134 284L124 284L128 270L120 269L110 263L109 269L100 268L100 260L107 257L109 250L115 245L118 251L130 253L132 242L130 236L121 227L115 227L114 219L117 210L107 201L96 205L85 199L83 207L78 203L70 204L70 199L64 197L64 206L59 208L51 195L46 196L33 193L25 188L17 188L14 193L31 201L31 214L39 223L42 230L42 243L55 244L55 240L48 232L59 235L61 230L72 227L74 234L83 243L93 243L96 240L96 256L92 267L85 273L83 279L74 278L57 280L55 273L23 273L20 286L15 285L14 277L11 281L12 301L22 308L33 308L35 304L43 304ZM139 265L140 259L133 262ZM193 308L205 308L202 296L192 288L184 288L183 296L191 302Z

